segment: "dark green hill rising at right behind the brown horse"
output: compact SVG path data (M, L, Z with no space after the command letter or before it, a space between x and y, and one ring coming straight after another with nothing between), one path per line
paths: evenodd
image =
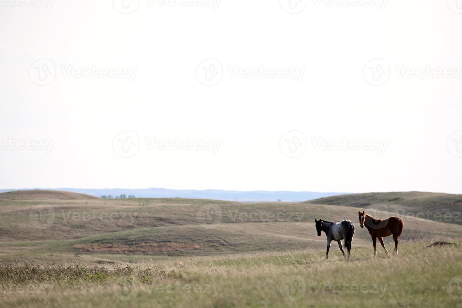
M462 195L460 194L427 192L355 193L314 199L304 203L346 205L364 211L367 211L367 209L379 209L389 211L399 217L411 215L439 222L462 224Z

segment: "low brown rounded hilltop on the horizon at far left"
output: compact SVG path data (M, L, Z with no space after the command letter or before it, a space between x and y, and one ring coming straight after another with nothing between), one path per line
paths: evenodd
M101 199L99 197L83 194L72 193L58 190L18 190L13 192L0 193L0 200L87 200Z

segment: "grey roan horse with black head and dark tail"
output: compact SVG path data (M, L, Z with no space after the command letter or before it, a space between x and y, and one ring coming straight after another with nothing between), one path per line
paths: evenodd
M343 257L345 260L350 260L351 242L353 241L354 235L354 224L350 220L342 220L340 223L333 223L330 221L324 221L322 219L315 219L315 223L318 236L321 236L321 231L324 231L327 236L326 260L329 256L330 242L332 241L337 241L337 243L339 243L339 248L343 254ZM345 240L343 242L343 247L348 250L348 259L346 259L345 253L343 252L342 243L340 240Z

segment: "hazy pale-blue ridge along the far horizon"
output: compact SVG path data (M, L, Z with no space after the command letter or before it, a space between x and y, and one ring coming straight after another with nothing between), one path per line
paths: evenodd
M272 202L280 199L284 202L302 202L311 199L334 196L344 193L317 193L317 192L292 192L292 191L228 191L228 190L177 190L165 188L146 189L80 189L80 188L46 188L47 190L60 190L73 193L85 193L97 197L103 195L118 196L120 194L134 195L137 198L186 198L186 199L216 199L242 202ZM0 190L0 192L12 191L13 189ZM20 189L23 190L23 189Z

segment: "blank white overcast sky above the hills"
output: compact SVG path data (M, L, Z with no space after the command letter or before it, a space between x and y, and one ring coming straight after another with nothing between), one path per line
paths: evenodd
M462 3L29 1L0 188L462 193Z

